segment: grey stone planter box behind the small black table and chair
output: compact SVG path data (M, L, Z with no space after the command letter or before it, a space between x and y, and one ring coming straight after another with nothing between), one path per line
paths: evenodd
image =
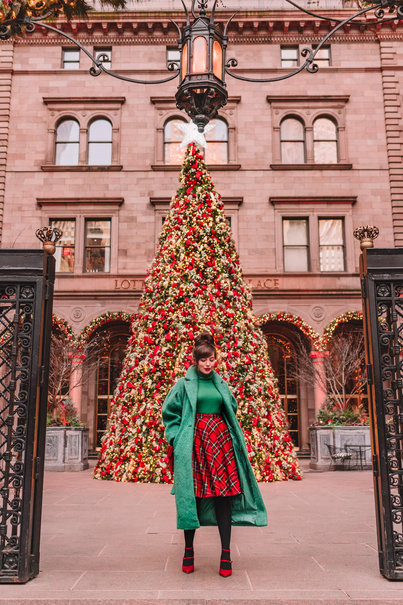
M335 445L338 448L343 448L344 444L350 445L371 445L370 428L368 427L341 427L341 426L324 426L324 427L309 427L311 437L311 462L309 468L315 470L327 471L330 466L330 454L326 444ZM363 451L363 469L372 468L372 454L370 448ZM355 454L350 464L355 464ZM338 464L332 464L332 470L336 467L341 470L343 467L342 461ZM348 461L344 464L344 469L349 468ZM356 466L356 469L360 469Z

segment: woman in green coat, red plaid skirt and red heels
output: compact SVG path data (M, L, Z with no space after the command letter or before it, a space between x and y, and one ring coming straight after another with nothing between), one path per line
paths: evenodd
M184 529L182 570L195 569L193 538L201 525L218 525L220 575L232 573L231 525L267 525L267 514L236 419L237 403L214 371L214 338L195 339L193 365L163 404L166 439L174 451L176 522Z

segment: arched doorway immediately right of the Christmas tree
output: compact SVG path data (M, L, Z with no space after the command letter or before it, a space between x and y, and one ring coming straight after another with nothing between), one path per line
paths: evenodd
M280 399L289 422L289 436L294 447L301 447L300 439L300 405L298 383L293 368L297 363L294 345L283 335L266 334L269 359L277 380Z

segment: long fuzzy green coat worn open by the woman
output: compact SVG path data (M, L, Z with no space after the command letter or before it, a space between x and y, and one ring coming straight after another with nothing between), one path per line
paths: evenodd
M232 525L267 525L266 508L248 458L242 429L236 419L237 402L219 374L213 370L213 382L222 395L222 417L230 431L242 494L231 496ZM173 445L175 494L178 529L195 529L201 525L217 525L213 498L202 498L196 509L193 488L193 433L195 431L198 376L195 367L187 370L171 388L163 404L166 439Z

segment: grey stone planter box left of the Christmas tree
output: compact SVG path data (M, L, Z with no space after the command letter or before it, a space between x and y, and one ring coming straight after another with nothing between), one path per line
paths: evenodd
M88 428L47 427L45 471L85 471L88 464Z

